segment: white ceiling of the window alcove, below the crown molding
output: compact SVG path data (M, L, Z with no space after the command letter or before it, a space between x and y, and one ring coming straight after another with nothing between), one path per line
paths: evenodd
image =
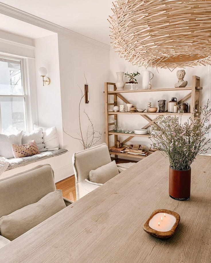
M2 14L0 14L0 25L0 29L3 31L15 33L16 35L21 35L33 39L55 34L54 32L48 31L41 27L37 27L35 25L31 25Z

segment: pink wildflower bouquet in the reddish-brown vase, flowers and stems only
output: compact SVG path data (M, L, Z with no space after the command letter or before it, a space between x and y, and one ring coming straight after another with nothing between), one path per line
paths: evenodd
M151 148L156 148L169 158L170 167L174 170L189 170L190 165L197 154L206 153L211 149L208 146L210 139L205 136L211 127L209 116L211 109L209 101L204 107L200 107L202 112L201 119L181 123L181 115L178 116L163 115L158 117L157 125L152 126ZM197 111L197 110L196 110ZM193 113L195 114L196 111Z

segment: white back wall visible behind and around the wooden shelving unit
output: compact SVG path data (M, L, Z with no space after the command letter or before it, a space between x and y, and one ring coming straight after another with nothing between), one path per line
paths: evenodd
M114 52L114 49L111 48L110 50L110 81L116 82L116 72L124 71L128 73L138 71L141 73L142 70L145 70L144 67L137 67L133 66L129 62L125 61L123 58L117 57L117 53ZM159 73L156 69L148 68L154 73L154 78L152 79L152 88L162 88L162 87L174 87L174 84L177 82L176 71L177 69L173 70L173 72L169 71L169 69L158 69ZM210 66L197 66L194 68L187 67L185 68L186 75L184 80L188 81L187 86L191 87L192 85L192 75L197 75L200 77L200 85L203 87L201 91L202 96L200 97L200 106L206 104L207 100L210 99ZM142 87L142 74L137 76L137 81L140 84L139 88ZM124 78L124 81L128 81L127 78ZM125 89L128 89L125 86ZM162 91L162 92L144 92L144 93L122 93L122 95L130 101L130 103L134 103L136 107L146 108L146 102L151 101L152 107L158 107L157 101L159 99L166 100L166 109L167 109L167 102L171 100L171 97L177 97L177 100L180 100L182 97L187 95L190 91ZM121 100L120 100L121 101ZM187 100L190 102L190 99ZM124 103L125 104L125 103ZM149 115L150 117L150 115ZM156 115L151 115L151 117L156 117ZM112 118L112 117L111 117ZM112 120L112 119L111 119ZM111 121L112 122L112 121ZM134 116L134 115L118 115L118 127L128 127L128 129L134 128L142 128L147 123L144 118L141 116ZM112 142L114 140L113 136ZM122 137L121 140L124 140L126 137ZM133 138L131 143L142 143L147 146L150 144L150 140L148 138Z

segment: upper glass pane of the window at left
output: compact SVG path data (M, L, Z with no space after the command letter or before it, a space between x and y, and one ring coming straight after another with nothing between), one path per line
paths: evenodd
M23 95L20 60L0 57L0 94Z

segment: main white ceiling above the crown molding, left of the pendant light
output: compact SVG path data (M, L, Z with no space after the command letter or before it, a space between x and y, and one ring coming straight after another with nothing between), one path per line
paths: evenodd
M2 3L110 45L112 0L1 0ZM5 29L3 29L5 30Z

